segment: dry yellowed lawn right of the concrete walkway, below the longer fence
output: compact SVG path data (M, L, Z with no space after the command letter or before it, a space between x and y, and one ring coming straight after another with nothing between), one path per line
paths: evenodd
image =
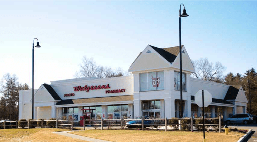
M192 142L203 141L203 132L190 131L161 131L161 130L85 130L70 132L81 136L109 140L114 142ZM207 142L236 142L244 134L240 132L205 132Z

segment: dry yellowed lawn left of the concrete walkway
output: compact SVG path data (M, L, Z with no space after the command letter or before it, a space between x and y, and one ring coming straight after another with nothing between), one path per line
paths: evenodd
M69 131L70 129L56 129L56 128L33 128L33 129L1 129L0 142L85 142L83 140L70 138L52 132Z

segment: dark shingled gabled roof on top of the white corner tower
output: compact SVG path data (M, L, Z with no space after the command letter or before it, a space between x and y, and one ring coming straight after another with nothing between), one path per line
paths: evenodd
M168 62L174 62L177 55L179 54L179 46L169 47L169 48L158 48L152 45L151 48L153 48L156 52L158 52L164 59L166 59ZM181 48L183 45L181 45Z

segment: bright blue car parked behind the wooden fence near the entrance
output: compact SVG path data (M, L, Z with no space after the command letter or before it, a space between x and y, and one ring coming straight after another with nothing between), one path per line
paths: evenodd
M136 117L136 119L151 119L150 116L139 116L139 117ZM148 124L161 124L161 121L160 120L144 120L144 125L148 125ZM142 124L142 120L133 120L133 121L128 121L126 122L126 127L128 128L136 128L136 127L140 127L138 125L133 125L133 124ZM144 128L146 127L150 127L150 126L144 126ZM155 128L157 126L154 126Z

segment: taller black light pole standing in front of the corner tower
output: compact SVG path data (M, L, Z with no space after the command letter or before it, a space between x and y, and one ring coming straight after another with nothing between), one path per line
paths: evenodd
M181 14L181 5L183 5L182 3L180 4L180 9L179 9L179 62L180 62L180 106L181 106L181 111L180 111L180 118L183 117L183 96L182 96L182 53L181 53L181 17L187 17L189 16L186 13L185 10L185 5L184 6L184 10L183 13Z

